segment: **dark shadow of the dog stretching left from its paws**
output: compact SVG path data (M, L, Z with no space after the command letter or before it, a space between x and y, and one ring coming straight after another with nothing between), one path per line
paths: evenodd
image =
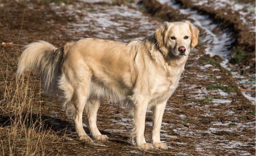
M0 127L10 127L14 125L14 122L20 118L15 114L0 115ZM76 131L74 124L69 121L62 120L57 117L51 117L49 115L39 115L34 113L22 113L22 117L19 119L22 120L26 128L29 127L41 127L39 131L51 130L58 136L68 135L70 138L76 138ZM90 135L90 131L87 127L84 127L86 134ZM100 131L102 135L107 135L110 137L109 141L116 142L118 144L129 144L128 137L119 134L109 133L107 131Z

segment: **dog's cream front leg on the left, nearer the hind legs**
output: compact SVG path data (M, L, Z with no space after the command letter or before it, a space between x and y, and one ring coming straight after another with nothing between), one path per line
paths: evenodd
M153 148L152 144L146 143L144 137L145 118L148 107L148 99L139 99L134 102L134 137L136 144L144 150Z

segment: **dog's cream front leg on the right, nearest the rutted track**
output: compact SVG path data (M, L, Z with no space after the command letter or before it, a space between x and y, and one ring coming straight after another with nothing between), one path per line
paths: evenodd
M160 141L160 129L162 125L162 118L167 100L157 103L153 109L153 130L151 133L151 143L155 148L167 149L166 143Z

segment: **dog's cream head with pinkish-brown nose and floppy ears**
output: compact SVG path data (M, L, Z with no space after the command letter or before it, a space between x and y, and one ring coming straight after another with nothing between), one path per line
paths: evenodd
M155 37L160 51L166 58L188 56L198 43L198 29L190 23L164 22L156 29Z

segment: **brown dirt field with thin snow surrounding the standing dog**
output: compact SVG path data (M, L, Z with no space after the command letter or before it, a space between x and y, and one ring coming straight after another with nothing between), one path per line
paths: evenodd
M248 29L254 27L243 36L235 22L226 24L224 13L202 10L219 7L212 1L60 1L0 1L0 155L255 155L255 11L244 18L253 15L254 23L240 21ZM255 7L255 2L247 3ZM27 72L15 81L18 57L30 42L45 40L56 47L85 37L129 42L151 35L165 20L191 20L200 29L199 45L190 53L164 113L161 138L168 150L132 146L128 111L108 99L97 122L109 140L80 142L72 118L58 97L44 94L37 75ZM83 119L89 134L85 114ZM151 129L148 111L147 141Z

